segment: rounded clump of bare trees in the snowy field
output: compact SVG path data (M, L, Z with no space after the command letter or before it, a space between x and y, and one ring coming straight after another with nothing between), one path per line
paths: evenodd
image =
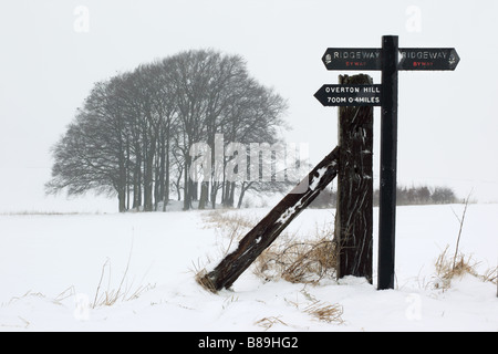
M53 147L49 192L115 194L120 211L156 210L169 199L234 205L257 184L190 178L190 148L279 142L284 100L252 79L242 58L187 51L94 85ZM238 189L238 190L237 190ZM218 200L218 201L217 201ZM239 199L239 205L241 199Z

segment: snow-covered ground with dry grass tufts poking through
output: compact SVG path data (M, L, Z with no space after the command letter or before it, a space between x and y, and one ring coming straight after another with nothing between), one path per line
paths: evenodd
M216 266L229 242L209 212L0 215L0 331L498 331L496 284L465 275L433 287L461 205L397 209L396 289L386 291L357 278L263 282L249 269L232 290L207 292L195 270ZM333 212L304 210L290 228L313 233ZM497 267L497 216L498 205L467 210L460 251L480 273ZM138 296L92 306L120 288ZM313 305L340 309L341 321L321 321Z

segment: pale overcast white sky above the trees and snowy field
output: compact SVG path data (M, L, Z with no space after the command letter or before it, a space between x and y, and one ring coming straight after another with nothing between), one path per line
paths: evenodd
M309 143L312 163L336 145L336 108L313 97L341 72L328 46L455 48L455 72L401 72L398 181L445 185L498 201L497 1L2 0L0 3L0 210L54 209L44 198L50 147L94 82L181 50L246 58L251 74L288 98L288 142ZM87 10L87 31L77 27ZM83 19L84 20L84 19ZM75 28L76 24L76 28ZM346 72L342 72L346 73ZM349 72L347 74L354 74ZM380 83L380 72L365 72ZM380 108L375 108L378 183ZM65 201L64 201L65 202ZM101 200L71 208L115 211Z

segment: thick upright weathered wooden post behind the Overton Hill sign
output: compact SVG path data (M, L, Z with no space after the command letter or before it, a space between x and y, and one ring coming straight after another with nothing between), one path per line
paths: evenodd
M369 75L340 75L340 84L373 84ZM372 283L373 107L339 107L340 164L335 240L338 278L364 277Z

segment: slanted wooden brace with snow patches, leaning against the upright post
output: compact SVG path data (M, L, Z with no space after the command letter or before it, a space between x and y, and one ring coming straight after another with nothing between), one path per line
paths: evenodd
M240 274L283 231L283 229L305 209L338 175L339 147L335 147L313 170L302 179L252 230L238 248L225 257L198 282L216 292L230 288Z

